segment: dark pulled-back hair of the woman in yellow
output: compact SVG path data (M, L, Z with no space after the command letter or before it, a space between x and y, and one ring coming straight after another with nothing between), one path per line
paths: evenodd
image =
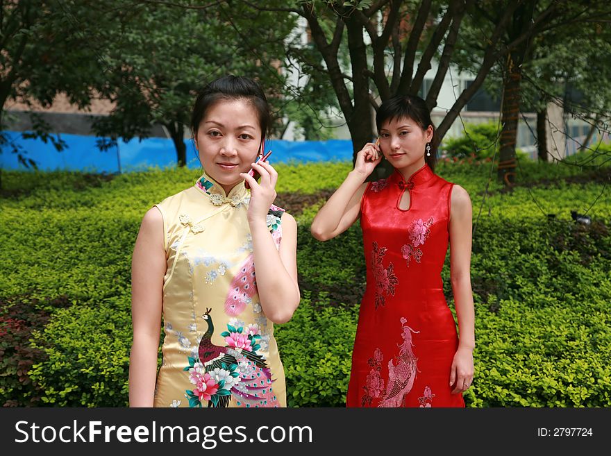
M219 100L247 100L259 117L262 137L267 136L271 124L271 112L265 93L260 85L246 76L223 76L208 83L199 91L193 104L191 115L191 131L196 135L201 119L206 116L208 109Z

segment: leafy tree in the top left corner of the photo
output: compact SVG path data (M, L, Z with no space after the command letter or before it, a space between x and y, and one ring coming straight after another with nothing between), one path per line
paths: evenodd
M50 105L58 92L65 92L81 108L90 103L90 83L98 76L90 52L71 33L73 27L63 9L68 1L19 0L0 1L0 152L17 153L26 166L35 166L19 146L1 133L8 101ZM73 2L74 3L74 2ZM94 17L97 3L80 1L84 19ZM98 23L99 24L99 23ZM99 24L101 25L101 24ZM42 137L56 149L65 144L49 133L40 117L33 117L33 132L24 137ZM0 169L1 187L1 169Z

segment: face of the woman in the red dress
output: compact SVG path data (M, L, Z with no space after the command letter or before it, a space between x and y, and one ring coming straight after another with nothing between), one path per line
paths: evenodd
M380 128L380 147L396 169L416 171L424 166L426 143L433 139L433 127L426 130L410 119L399 117L385 121Z

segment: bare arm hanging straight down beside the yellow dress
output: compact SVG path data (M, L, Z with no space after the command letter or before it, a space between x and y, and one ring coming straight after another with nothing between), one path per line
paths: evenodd
M132 257L133 343L129 358L129 405L152 407L157 377L163 278L163 219L151 208L142 219Z

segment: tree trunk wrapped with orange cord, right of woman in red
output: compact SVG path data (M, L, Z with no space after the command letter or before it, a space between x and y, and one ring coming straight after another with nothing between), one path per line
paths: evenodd
M505 85L503 86L503 105L501 106L501 144L499 146L499 180L506 187L515 182L516 175L516 138L518 132L518 115L520 112L521 69L510 53L505 68Z

